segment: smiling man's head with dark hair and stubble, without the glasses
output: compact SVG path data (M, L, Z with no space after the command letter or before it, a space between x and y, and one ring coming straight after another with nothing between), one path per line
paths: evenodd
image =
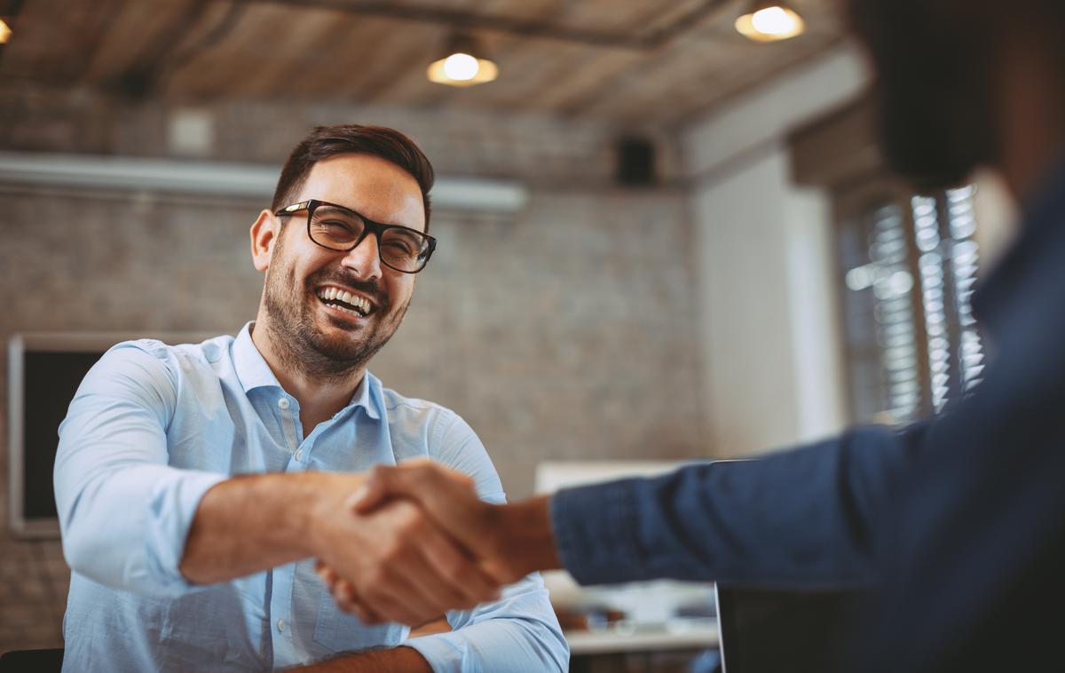
M318 199L426 231L431 185L428 160L396 131L315 129L292 153L274 204L251 228L256 267L266 272L257 343L267 340L286 368L320 378L361 371L403 321L415 276L382 264L374 235L347 252L331 250L308 236L306 210L275 211Z

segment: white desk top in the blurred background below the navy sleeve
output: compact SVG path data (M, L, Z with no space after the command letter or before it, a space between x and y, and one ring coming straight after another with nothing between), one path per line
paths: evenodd
M710 619L677 620L648 628L623 622L603 630L566 631L566 640L573 655L701 650L718 646L718 623Z

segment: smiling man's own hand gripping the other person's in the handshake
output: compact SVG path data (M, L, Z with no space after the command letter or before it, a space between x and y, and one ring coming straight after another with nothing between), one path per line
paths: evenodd
M424 509L396 499L356 511L350 496L349 488L323 494L310 531L320 568L346 580L341 608L366 623L417 626L498 597L498 582Z

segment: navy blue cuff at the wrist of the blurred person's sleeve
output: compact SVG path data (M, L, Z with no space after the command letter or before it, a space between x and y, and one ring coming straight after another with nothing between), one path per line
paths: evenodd
M563 489L551 498L555 547L581 585L641 579L648 554L639 541L642 479Z

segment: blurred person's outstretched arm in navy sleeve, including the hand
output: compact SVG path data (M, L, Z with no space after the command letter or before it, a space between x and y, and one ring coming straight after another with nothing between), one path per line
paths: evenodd
M506 581L561 565L581 584L672 577L846 588L875 572L888 493L916 460L923 425L862 428L751 461L566 489L514 505L479 502L428 462L378 467L356 506L409 497Z

